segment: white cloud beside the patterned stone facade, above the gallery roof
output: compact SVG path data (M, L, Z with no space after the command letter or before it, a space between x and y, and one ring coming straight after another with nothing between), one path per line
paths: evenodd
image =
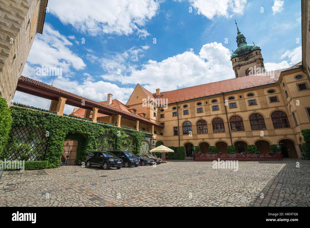
M73 75L71 67L75 70L81 70L86 67L86 64L69 49L72 45L65 36L54 30L50 24L45 23L43 34L35 37L27 64L36 67L41 67L41 65L52 68L61 67L63 73L68 76ZM24 69L24 76L33 77L33 75L26 73Z

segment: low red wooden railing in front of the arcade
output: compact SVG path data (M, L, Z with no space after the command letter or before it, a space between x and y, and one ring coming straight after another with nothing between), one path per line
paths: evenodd
M266 161L282 160L280 153L270 154L195 154L195 161L213 160Z

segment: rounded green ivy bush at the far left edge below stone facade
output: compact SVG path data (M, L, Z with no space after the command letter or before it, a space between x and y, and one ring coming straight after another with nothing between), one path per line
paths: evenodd
M9 140L12 117L7 106L7 101L0 94L0 154L5 149L5 144Z

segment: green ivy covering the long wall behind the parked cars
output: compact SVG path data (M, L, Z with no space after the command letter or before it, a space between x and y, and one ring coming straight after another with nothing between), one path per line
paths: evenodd
M100 125L85 120L76 120L65 116L57 116L54 113L34 111L27 108L11 107L12 128L31 127L44 129L49 137L45 160L48 168L56 168L60 165L61 155L64 151L64 141L72 139L78 141L76 163L81 164L86 156L97 150L99 136L109 134L114 145L114 150L121 150L122 145L128 143L125 129L114 126ZM135 151L140 153L141 141L145 134L142 132L131 132L135 139ZM2 150L3 151L3 150ZM1 157L6 156L6 152Z

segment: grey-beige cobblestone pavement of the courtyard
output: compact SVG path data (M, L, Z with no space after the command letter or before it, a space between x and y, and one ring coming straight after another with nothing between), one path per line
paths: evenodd
M193 161L7 171L0 206L310 206L310 161L241 161L237 172Z

